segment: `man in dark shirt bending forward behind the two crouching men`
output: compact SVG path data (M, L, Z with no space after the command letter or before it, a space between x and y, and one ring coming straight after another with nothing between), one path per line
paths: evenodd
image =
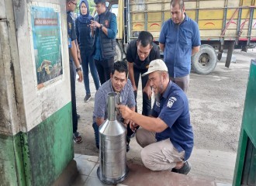
M153 36L147 31L140 32L137 40L132 40L126 51L128 61L129 77L133 84L135 100L137 100L137 88L140 74L147 72L151 60L160 59L160 52L157 45L153 42ZM141 77L143 89L142 115L150 115L151 111L151 88L147 83L148 77ZM136 107L137 111L137 107Z

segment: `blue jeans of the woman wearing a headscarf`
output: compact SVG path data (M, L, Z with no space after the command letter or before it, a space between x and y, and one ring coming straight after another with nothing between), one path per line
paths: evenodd
M85 51L81 53L81 67L83 68L83 75L84 75L84 83L85 83L85 92L86 95L91 95L90 91L90 83L89 83L89 68L92 74L92 78L95 84L95 88L98 91L99 89L99 76L95 67L95 63L92 57L92 54L88 54Z

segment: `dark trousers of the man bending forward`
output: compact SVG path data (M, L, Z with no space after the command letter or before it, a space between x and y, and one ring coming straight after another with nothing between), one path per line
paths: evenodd
M138 89L138 85L139 85L139 80L140 80L140 74L144 74L145 72L147 72L146 70L140 70L137 69L136 67L133 67L133 74L134 74L134 81L135 81L135 85ZM142 84L142 90L145 88L146 84L147 84L147 80L148 80L148 75L141 77L141 84ZM142 92L142 98L143 98L143 102L142 102L142 115L150 115L151 114L151 98L148 98L147 94L145 92ZM135 101L136 101L136 112L137 112L137 91L134 91L134 96L135 96Z

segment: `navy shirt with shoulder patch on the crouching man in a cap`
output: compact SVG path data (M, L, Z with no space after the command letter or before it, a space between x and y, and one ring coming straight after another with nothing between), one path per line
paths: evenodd
M177 84L170 81L160 100L154 102L152 116L160 118L168 125L163 132L156 133L157 141L170 138L178 152L185 150L185 160L188 160L194 145L189 101Z

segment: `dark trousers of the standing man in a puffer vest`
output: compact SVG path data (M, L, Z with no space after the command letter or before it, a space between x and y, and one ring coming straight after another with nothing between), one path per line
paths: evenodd
M110 74L114 68L114 57L108 60L95 60L95 66L99 74L99 81L103 84L110 79Z

